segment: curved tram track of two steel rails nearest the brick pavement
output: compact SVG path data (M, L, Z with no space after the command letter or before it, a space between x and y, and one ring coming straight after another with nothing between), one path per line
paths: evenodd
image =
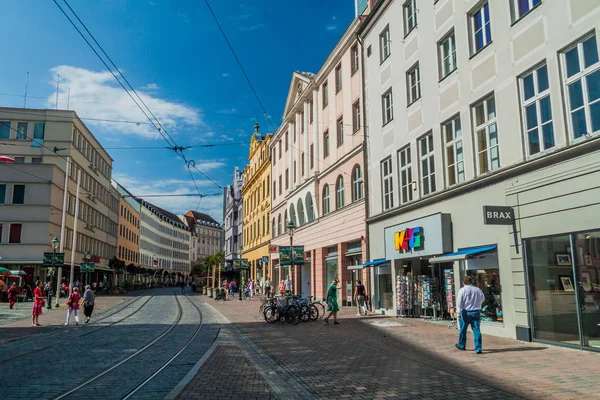
M129 355L128 357L124 358L123 360L119 361L118 363L112 365L110 368L107 368L104 371L102 371L100 373L97 373L96 375L94 375L93 377L87 379L86 381L84 381L83 383L79 384L75 388L73 388L73 389L71 389L71 390L69 390L69 391L61 394L58 397L55 397L55 400L64 399L66 397L74 395L74 394L76 394L77 392L79 392L80 390L82 390L84 388L93 389L93 384L95 382L97 382L99 379L101 379L102 377L104 377L104 376L110 374L111 372L115 371L117 368L119 368L122 365L126 364L127 362L129 362L130 360L132 360L135 357L139 356L140 354L146 352L147 350L149 350L150 348L152 348L157 342L161 341L167 335L169 335L169 333L171 333L177 326L180 326L180 322L181 322L181 320L183 318L183 307L181 305L181 302L179 301L179 297L176 294L174 294L174 295L175 295L175 299L177 301L178 316L176 318L176 321L166 331L164 331L163 333L161 333L158 337L156 337L155 339L153 339L150 343L146 344L144 347L142 347L139 350L137 350L135 353ZM146 387L146 385L148 383L150 383L151 381L153 381L157 376L160 375L160 373L162 371L164 371L173 361L175 361L177 359L177 357L179 357L188 348L188 346L193 342L193 340L198 336L198 333L200 332L200 329L202 328L202 322L203 322L202 312L200 311L200 308L198 307L198 305L196 305L187 296L184 296L184 297L190 302L190 304L198 312L199 321L198 321L198 324L196 325L193 333L174 352L174 354L172 356L170 356L168 359L162 361L160 363L160 365L157 366L156 368L154 368L151 373L146 374L146 376L144 378L142 378L141 380L138 379L138 383L135 386L133 386L132 388L130 388L129 390L127 390L124 394L120 395L121 399L130 399L136 393L138 393L140 390L142 390L144 387Z

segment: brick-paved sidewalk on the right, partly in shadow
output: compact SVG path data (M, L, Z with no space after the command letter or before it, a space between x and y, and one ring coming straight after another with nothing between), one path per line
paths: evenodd
M258 301L200 299L318 398L598 398L598 353L484 335L476 355L435 323L343 308L341 325L267 324Z

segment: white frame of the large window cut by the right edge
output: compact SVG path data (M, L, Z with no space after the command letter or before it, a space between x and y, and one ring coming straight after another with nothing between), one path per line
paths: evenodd
M596 99L593 102L589 102L588 100L588 89L587 89L587 85L585 84L584 80L586 80L586 78L591 75L592 73L598 71L598 69L600 69L600 61L596 62L595 64L590 65L589 67L585 67L585 61L584 61L584 57L583 57L583 42L585 42L586 40L590 39L592 36L595 36L595 32L590 34L590 35L586 35L583 38L581 38L580 40L578 40L576 43L574 43L572 46L569 46L568 48L566 48L565 50L563 50L560 54L560 60L561 60L561 66L562 66L562 70L563 70L563 81L564 81L564 90L565 90L565 101L567 103L567 112L568 112L568 126L569 126L569 132L571 135L571 139L575 142L579 142L582 140L586 140L586 134L581 135L580 137L576 138L575 137L575 129L573 127L573 113L577 112L581 109L584 110L585 113L585 123L586 126L588 127L588 130L591 129L592 127L592 116L591 116L591 105L596 104L597 102L600 101L600 99ZM571 77L567 77L567 53L571 50L573 50L574 48L577 48L577 55L579 58L579 66L580 68L583 68L582 70L580 70L578 73L574 74ZM598 51L598 37L596 36L596 51ZM600 56L600 54L599 54ZM599 57L600 59L600 57ZM569 96L569 86L574 84L577 81L581 81L581 86L582 86L582 93L583 93L583 105L581 107L578 107L576 110L571 110L571 98ZM596 136L600 134L600 130L596 131L596 132L587 132L587 135L591 135L591 136Z

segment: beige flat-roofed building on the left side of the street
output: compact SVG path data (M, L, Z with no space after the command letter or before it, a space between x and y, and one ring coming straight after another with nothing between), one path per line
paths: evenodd
M70 265L80 173L75 279L85 252L96 262L98 274L112 271L108 260L116 254L119 211L118 193L110 184L112 159L77 114L0 108L0 140L0 154L15 159L14 164L0 166L0 191L2 186L8 189L1 198L11 202L10 207L2 207L0 220L2 263L25 269L31 274L28 279L46 278L42 256L52 251L54 236L61 238L66 182L65 229L59 250L66 253ZM65 180L67 160L69 179Z

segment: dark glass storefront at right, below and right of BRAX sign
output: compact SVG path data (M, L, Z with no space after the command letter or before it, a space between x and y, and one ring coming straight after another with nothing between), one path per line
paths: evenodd
M525 246L534 339L600 348L600 231Z

